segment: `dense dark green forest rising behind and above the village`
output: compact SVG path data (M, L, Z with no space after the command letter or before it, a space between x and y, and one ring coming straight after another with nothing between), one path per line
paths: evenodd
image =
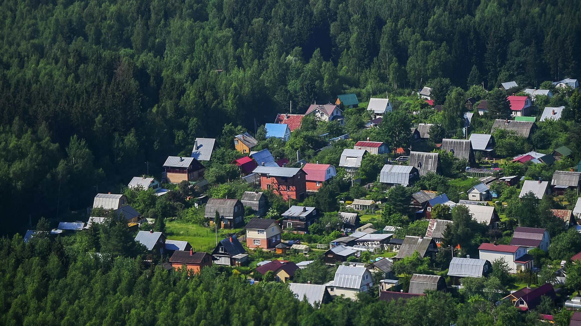
M3 233L355 92L579 76L581 2L3 1Z

